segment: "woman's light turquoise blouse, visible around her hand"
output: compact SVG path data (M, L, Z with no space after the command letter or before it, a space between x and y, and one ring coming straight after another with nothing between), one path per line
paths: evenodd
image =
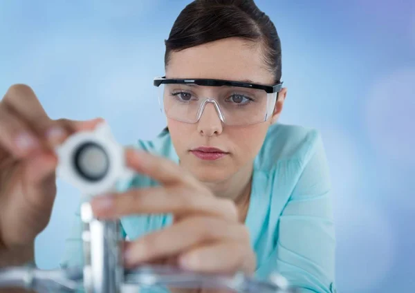
M137 147L178 163L172 140L163 131ZM156 186L136 176L120 189ZM130 240L172 223L170 215L122 218ZM300 292L335 292L335 230L331 185L320 134L313 129L273 124L255 158L250 206L246 217L251 245L257 254L257 278L271 272L285 276ZM82 222L75 214L61 265L82 265Z

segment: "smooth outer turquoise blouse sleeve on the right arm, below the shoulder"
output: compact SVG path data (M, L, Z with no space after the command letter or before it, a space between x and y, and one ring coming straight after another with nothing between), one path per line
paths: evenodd
M313 133L303 171L284 207L271 263L302 293L332 293L335 230L329 168L320 135Z

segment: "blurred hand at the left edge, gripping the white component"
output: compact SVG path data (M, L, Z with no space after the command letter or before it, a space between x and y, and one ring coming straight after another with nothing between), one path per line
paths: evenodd
M30 247L48 225L56 195L54 147L100 121L51 120L29 86L8 89L0 100L0 256Z

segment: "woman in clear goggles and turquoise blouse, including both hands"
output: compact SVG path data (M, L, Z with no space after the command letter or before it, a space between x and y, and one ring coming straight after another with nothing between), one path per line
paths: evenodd
M165 44L165 77L154 84L168 127L127 149L140 175L124 192L92 201L95 215L122 218L126 265L279 272L302 292L335 292L322 140L277 123L286 88L273 23L254 1L196 0ZM0 113L0 252L3 263L22 263L33 259L55 198L56 158L46 150L99 120L50 120L21 85ZM62 265L82 263L79 216L75 224Z

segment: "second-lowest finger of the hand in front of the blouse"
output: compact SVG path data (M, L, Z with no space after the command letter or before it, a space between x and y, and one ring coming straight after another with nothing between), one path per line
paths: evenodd
M201 243L232 240L249 247L248 229L239 223L229 223L214 217L190 217L163 230L142 236L126 247L127 265L176 256Z

